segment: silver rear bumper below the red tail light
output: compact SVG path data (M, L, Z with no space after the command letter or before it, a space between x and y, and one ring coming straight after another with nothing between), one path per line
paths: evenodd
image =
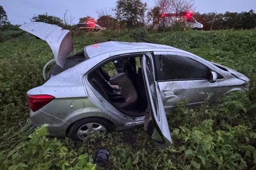
M60 118L52 116L46 112L38 110L36 112L30 111L29 113L33 126L40 127L43 124L48 124L49 136L66 137L66 131L70 123L63 121Z

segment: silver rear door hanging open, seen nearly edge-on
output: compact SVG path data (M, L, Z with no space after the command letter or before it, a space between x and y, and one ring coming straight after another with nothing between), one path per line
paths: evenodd
M164 148L171 144L171 135L160 96L157 82L154 80L154 64L149 55L142 57L142 72L149 101L145 114L144 129L154 140L157 147Z

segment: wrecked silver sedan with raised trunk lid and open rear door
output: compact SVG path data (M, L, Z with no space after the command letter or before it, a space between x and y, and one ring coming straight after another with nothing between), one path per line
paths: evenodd
M48 124L51 136L83 141L95 131L144 124L156 145L166 147L171 143L166 114L180 99L195 106L208 93L212 102L248 89L242 73L178 48L108 41L69 56L70 31L41 22L20 28L46 41L54 55L46 82L27 92L33 125Z

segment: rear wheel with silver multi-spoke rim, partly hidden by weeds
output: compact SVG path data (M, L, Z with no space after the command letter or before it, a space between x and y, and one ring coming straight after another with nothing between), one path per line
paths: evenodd
M91 133L96 131L106 134L114 131L114 125L104 118L84 118L71 124L67 136L73 141L85 141L90 138Z

